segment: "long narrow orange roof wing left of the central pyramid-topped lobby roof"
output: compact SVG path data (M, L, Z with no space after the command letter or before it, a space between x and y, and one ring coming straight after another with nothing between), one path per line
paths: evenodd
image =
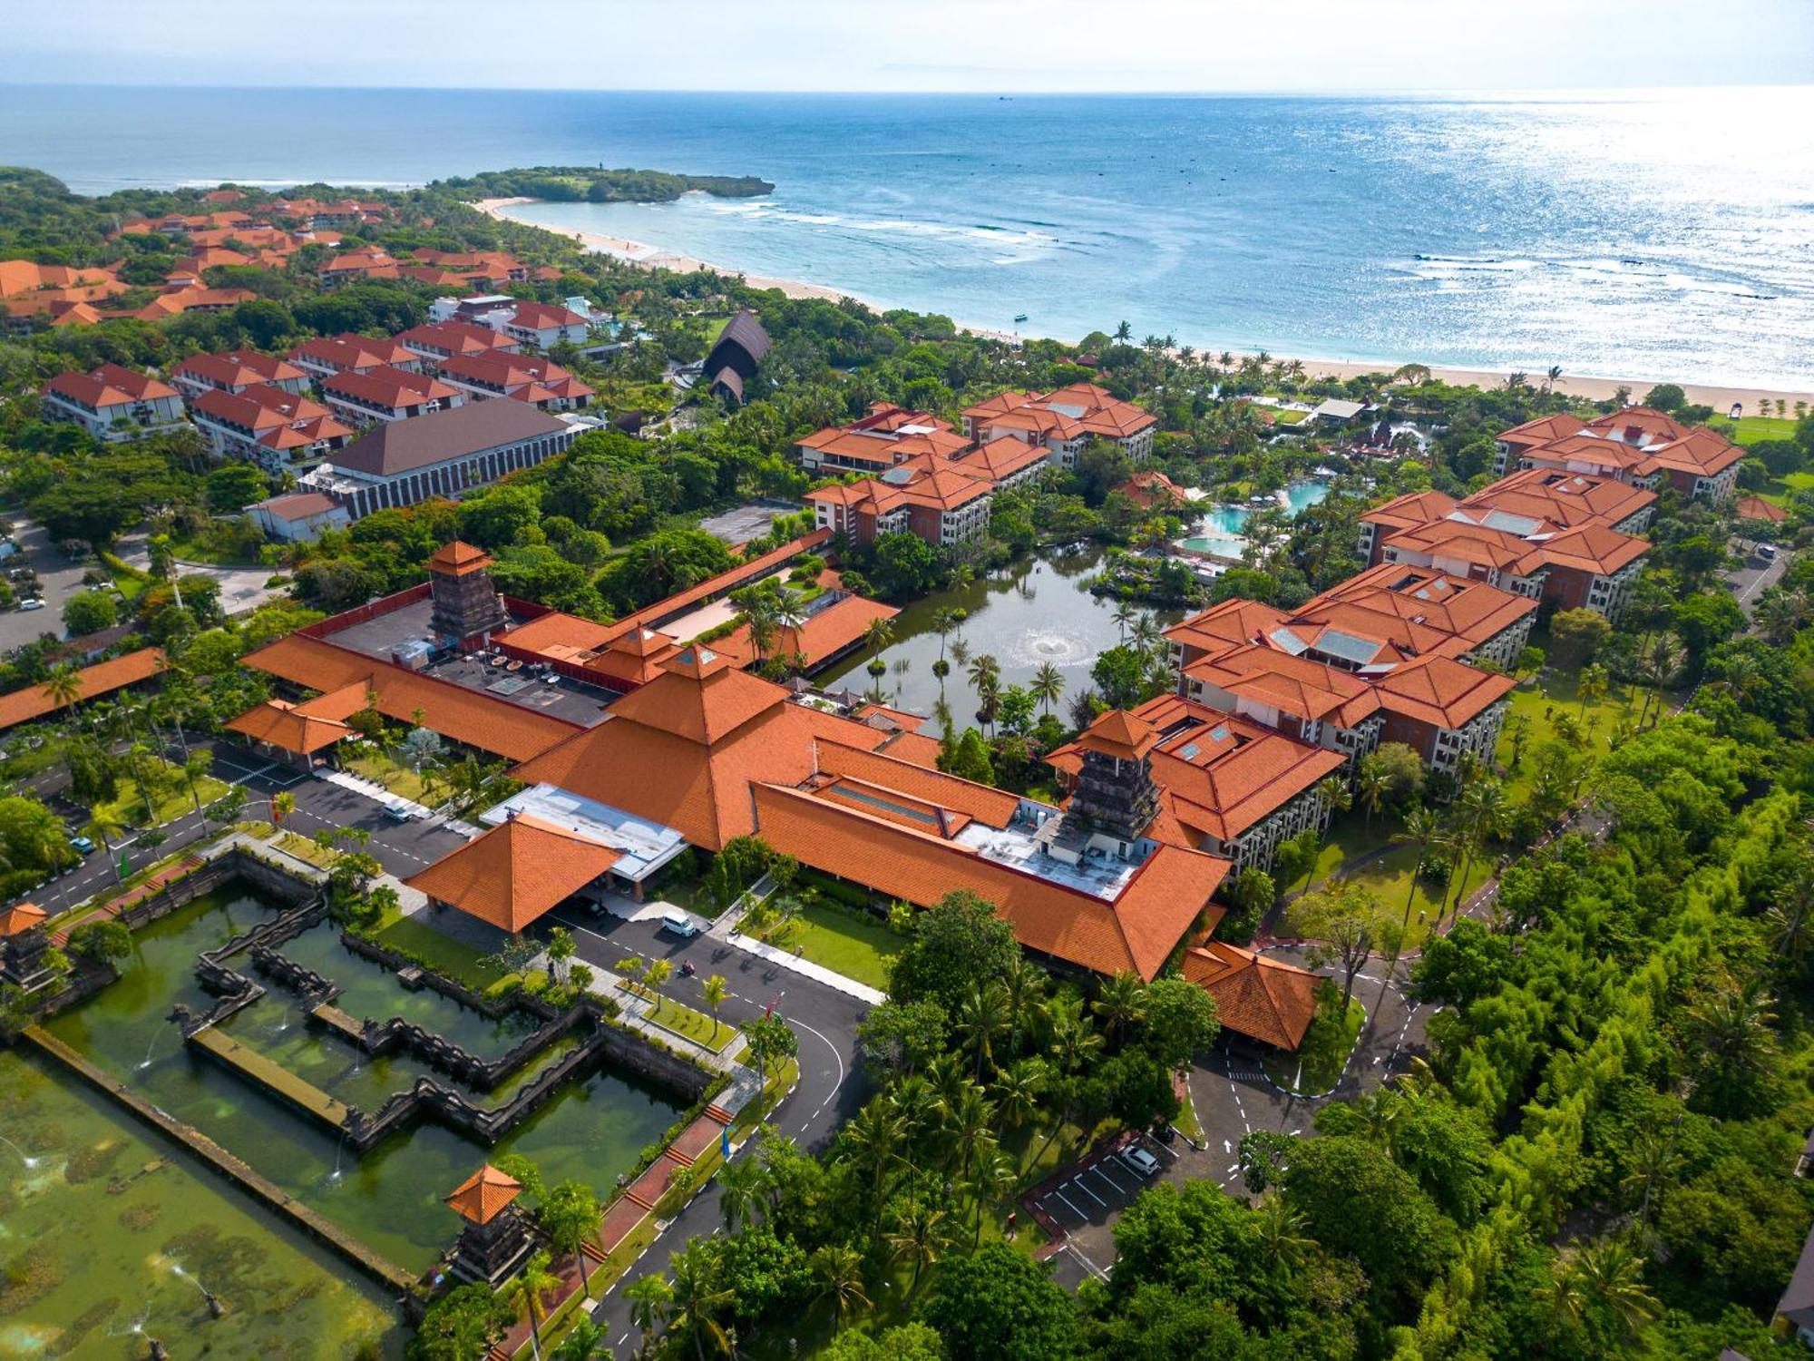
M551 713L526 710L521 704L466 690L452 680L417 675L403 666L348 651L307 633L278 639L249 653L241 664L310 690L337 691L354 684L370 686L377 691L377 711L386 719L408 722L415 710L421 710L423 724L428 729L506 760L528 760L582 731L577 724Z

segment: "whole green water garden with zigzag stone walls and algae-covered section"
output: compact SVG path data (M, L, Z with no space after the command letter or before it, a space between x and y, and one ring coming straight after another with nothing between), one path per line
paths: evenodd
M619 1062L646 1042L591 1004L463 994L310 893L223 880L0 1051L0 1356L399 1354L395 1287L432 1278L461 1227L443 1198L481 1163L521 1154L608 1199L711 1082L653 1049ZM209 1141L263 1190L207 1176ZM272 1212L290 1199L323 1229Z

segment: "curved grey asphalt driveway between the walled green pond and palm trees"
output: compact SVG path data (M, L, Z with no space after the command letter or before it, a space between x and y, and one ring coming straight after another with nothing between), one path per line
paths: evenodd
M798 1140L805 1149L816 1149L862 1105L865 1085L856 1065L856 1023L867 1013L862 1002L764 964L722 940L706 935L682 940L662 931L653 920L624 922L590 913L568 913L559 920L573 931L579 958L593 969L615 969L617 962L629 955L669 960L673 978L662 991L700 1011L707 1011L704 980L720 973L731 991L720 1014L733 1023L753 1020L773 1005L800 1040L800 1087L771 1118L776 1132ZM680 965L688 962L695 969L691 978L680 973ZM751 1158L755 1149L753 1140L744 1145L738 1158ZM624 1287L651 1270L664 1270L669 1254L684 1247L689 1238L706 1238L722 1227L724 1214L718 1209L715 1178L593 1310L593 1319L611 1339L611 1356L629 1357L637 1350L637 1330L629 1323Z

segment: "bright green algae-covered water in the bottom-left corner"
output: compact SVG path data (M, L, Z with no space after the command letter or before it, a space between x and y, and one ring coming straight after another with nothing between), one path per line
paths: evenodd
M401 1356L377 1287L34 1054L0 1053L0 1356Z

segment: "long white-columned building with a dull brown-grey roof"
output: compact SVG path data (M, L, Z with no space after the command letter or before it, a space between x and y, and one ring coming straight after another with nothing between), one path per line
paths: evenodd
M564 452L580 428L521 401L454 405L377 425L303 477L299 490L325 492L363 519L533 468Z

